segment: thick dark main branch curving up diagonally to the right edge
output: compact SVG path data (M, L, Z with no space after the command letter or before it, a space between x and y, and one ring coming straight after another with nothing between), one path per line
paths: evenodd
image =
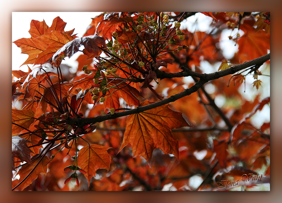
M102 122L102 121L106 121L106 120L110 120L110 119L119 118L119 117L122 117L122 116L128 116L128 115L132 115L132 114L135 114L135 113L140 113L140 112L143 112L143 111L147 111L147 110L156 108L158 106L168 104L170 102L175 102L176 100L178 100L182 97L188 96L188 95L192 94L193 92L196 92L199 88L201 88L208 81L215 80L215 79L218 79L220 77L227 76L227 75L230 75L230 74L234 74L234 73L236 73L240 70L243 70L245 68L248 68L250 66L254 66L258 63L266 62L269 59L270 59L270 53L267 54L267 55L264 55L262 57L256 58L254 60L251 60L249 62L227 68L223 71L209 73L209 74L199 73L201 75L201 77L200 77L200 80L198 82L196 82L195 85L193 85L192 87L190 87L188 89L185 89L183 92L175 94L175 95L173 95L169 98L166 98L162 101L155 102L155 103L152 103L152 104L149 104L149 105L146 105L146 106L139 106L135 109L131 109L131 110L128 110L128 111L97 116L97 117L94 117L94 118L68 118L68 124L77 125L77 126L85 126L87 124L93 124L93 123L97 123L97 122ZM190 76L190 75L186 75L187 74L186 71L180 72L180 73L184 74L182 77ZM177 75L179 75L180 73L165 73L165 74L169 74L169 75L176 74L174 77L177 77ZM188 74L189 74L189 72L188 72ZM200 75L198 75L198 76L200 76ZM180 77L180 75L179 75L179 77Z

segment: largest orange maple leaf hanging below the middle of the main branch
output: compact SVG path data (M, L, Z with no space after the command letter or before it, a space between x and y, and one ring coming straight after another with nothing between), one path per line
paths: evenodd
M148 100L140 106L149 105ZM168 105L128 116L123 135L123 147L131 144L133 157L142 156L149 163L155 148L165 154L173 154L178 159L178 141L171 135L171 129L183 126L191 127L182 117L182 113L172 111Z

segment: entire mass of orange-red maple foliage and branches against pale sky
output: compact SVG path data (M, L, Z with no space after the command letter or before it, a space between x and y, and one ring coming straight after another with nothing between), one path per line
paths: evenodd
M270 123L251 118L270 99L248 101L239 88L247 75L261 86L270 14L202 13L212 32L181 27L196 12L102 13L83 37L60 17L32 20L31 37L13 42L29 55L22 65L38 65L12 72L13 190L217 190L250 171L269 176ZM235 28L244 34L229 37L239 49L227 60L220 34ZM71 74L62 62L77 52ZM203 60L222 62L219 74L205 74ZM217 96L230 104L219 108Z

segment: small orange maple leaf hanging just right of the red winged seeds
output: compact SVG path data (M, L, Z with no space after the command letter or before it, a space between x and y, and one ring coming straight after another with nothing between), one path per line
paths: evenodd
M90 186L90 180L93 176L96 176L98 169L110 169L111 157L107 153L107 150L112 147L106 147L101 145L92 144L90 146L83 147L77 156L78 166L85 171L84 176Z

